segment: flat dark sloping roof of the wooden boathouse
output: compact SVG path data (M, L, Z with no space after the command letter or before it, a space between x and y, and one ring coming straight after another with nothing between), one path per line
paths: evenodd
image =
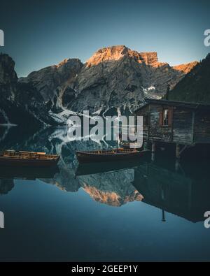
M156 100L156 99L146 99L146 103L144 106L141 106L140 108L137 108L134 112L138 112L142 108L145 108L149 104L158 104L161 106L177 106L180 108L188 108L188 109L202 109L202 110L209 110L210 111L210 103L188 103L185 101L168 101L168 100Z

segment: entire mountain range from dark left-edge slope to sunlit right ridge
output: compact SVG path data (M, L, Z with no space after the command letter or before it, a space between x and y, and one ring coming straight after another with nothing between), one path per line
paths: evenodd
M13 59L1 55L0 124L20 124L22 117L34 117L37 124L66 124L83 110L91 115L132 112L146 97L160 99L196 64L173 67L159 62L157 52L117 45L98 50L85 64L64 59L18 80Z

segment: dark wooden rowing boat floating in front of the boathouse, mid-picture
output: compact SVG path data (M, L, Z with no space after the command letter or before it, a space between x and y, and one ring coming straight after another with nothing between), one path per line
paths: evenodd
M80 163L85 162L104 162L136 159L142 157L148 150L136 150L123 148L114 150L93 150L92 152L76 152L76 157Z

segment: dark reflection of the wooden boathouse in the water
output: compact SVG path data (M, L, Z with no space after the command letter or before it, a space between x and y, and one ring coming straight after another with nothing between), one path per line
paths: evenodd
M198 168L186 174L162 168L156 164L141 164L134 170L134 187L144 196L144 203L179 217L197 222L204 220L204 212L210 210L209 176ZM191 177L190 177L191 176Z

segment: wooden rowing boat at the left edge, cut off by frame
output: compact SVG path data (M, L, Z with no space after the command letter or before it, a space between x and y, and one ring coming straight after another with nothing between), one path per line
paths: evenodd
M1 166L55 166L59 161L58 155L45 154L45 152L16 152L6 150L0 152Z

